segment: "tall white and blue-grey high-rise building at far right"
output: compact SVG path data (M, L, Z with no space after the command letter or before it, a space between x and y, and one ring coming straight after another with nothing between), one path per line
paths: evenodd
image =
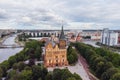
M102 32L101 43L109 46L118 45L118 32L109 31L105 28Z

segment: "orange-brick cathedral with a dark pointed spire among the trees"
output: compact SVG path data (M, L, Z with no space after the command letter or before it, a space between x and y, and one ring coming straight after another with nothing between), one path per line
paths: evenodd
M59 37L59 43L49 41L45 46L44 66L65 66L68 65L67 61L67 48L66 39L64 36L63 27Z

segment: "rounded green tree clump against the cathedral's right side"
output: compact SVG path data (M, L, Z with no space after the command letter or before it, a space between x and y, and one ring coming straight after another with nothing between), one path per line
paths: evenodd
M71 45L67 49L67 60L69 64L75 64L78 61L76 50Z

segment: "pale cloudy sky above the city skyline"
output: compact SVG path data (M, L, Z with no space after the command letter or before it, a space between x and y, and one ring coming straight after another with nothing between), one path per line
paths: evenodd
M0 0L0 29L120 29L120 0Z

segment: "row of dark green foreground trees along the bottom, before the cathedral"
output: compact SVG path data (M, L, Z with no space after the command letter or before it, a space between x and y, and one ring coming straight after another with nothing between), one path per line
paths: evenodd
M13 69L7 74L7 80L82 80L68 69L54 69L48 72L43 66L24 66L23 70Z

